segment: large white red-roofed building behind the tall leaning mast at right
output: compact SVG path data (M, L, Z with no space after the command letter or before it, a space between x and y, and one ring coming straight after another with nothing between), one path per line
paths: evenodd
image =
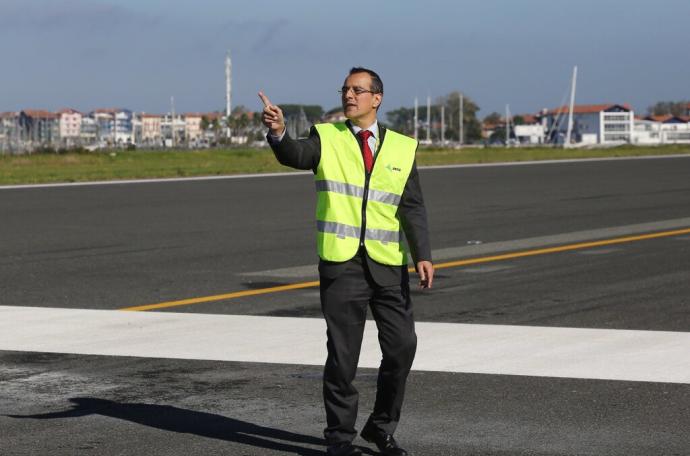
M548 141L563 143L568 128L568 106L547 110ZM571 142L580 144L621 144L633 142L635 113L626 104L591 104L573 107Z

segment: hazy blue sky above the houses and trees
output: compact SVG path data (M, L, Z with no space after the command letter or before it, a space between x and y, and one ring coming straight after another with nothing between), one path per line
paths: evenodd
M381 75L383 109L462 90L480 115L690 99L687 0L0 0L0 111L339 104L351 66Z

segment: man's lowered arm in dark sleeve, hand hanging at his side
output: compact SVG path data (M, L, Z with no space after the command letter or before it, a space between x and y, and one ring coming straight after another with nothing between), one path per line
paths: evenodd
M431 288L434 278L434 266L431 260L431 244L429 243L429 227L422 196L422 187L419 183L417 163L412 165L412 171L407 178L405 189L398 206L400 221L407 243L410 246L412 261L419 274L420 286Z

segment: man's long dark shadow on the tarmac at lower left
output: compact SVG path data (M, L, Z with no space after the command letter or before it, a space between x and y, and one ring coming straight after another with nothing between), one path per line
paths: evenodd
M48 420L102 415L164 431L194 434L302 456L322 456L324 454L323 450L299 445L324 446L323 439L259 426L213 413L197 412L169 405L122 403L92 397L74 397L70 399L70 402L73 404L72 407L61 412L6 416ZM273 439L282 440L285 443L276 442ZM367 454L376 454L368 448L362 448L362 450Z

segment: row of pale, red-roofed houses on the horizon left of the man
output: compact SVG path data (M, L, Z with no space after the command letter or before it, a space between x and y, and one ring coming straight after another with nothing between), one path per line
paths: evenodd
M238 113L238 116L242 113ZM250 118L253 113L245 113ZM123 147L130 144L160 147L208 144L227 125L218 112L183 114L135 113L129 109L75 109L50 112L25 109L0 113L0 150L38 147ZM235 135L235 142L246 142Z

